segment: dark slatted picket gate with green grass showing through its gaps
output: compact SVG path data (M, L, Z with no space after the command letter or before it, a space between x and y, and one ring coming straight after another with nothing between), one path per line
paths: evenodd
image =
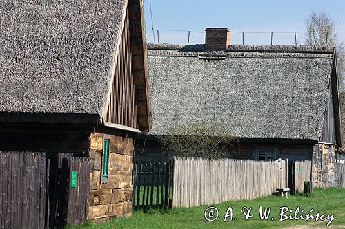
M135 162L133 210L172 208L172 162Z

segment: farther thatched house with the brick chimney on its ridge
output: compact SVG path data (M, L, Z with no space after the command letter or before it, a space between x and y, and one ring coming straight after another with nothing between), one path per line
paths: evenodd
M168 160L157 136L217 120L240 142L228 157L311 160L315 185L331 186L342 145L335 50L230 45L230 34L206 28L205 45L149 45L153 126L136 160Z

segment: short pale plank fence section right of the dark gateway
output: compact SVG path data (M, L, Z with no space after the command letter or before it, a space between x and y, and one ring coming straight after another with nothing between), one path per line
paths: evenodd
M311 181L311 161L295 161L295 192L304 192L304 182Z

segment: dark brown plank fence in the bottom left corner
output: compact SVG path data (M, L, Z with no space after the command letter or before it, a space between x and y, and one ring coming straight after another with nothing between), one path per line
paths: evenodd
M0 228L46 226L45 153L0 152Z

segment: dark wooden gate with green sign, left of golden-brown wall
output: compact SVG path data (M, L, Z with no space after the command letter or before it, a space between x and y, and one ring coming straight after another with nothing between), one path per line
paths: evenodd
M88 220L90 158L59 153L53 201L53 228Z

